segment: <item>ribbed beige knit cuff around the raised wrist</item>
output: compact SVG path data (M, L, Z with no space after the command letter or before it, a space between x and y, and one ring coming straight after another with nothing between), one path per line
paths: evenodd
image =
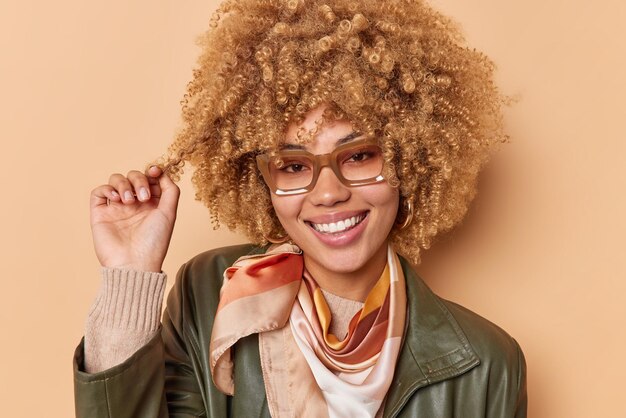
M165 273L102 267L102 284L88 321L105 328L155 331L166 283Z

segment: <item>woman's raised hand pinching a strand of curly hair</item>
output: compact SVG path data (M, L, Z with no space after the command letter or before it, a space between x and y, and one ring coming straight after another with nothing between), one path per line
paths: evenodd
M158 167L113 174L91 192L94 248L104 267L161 271L180 189Z

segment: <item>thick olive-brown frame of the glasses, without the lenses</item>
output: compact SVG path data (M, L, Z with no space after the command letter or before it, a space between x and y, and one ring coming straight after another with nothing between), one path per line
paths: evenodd
M383 172L382 167L381 167L380 173L374 177L369 177L369 178L361 179L361 180L348 180L341 174L341 170L339 170L339 167L337 166L337 155L339 155L341 152L347 149L357 148L357 147L364 146L364 145L375 145L378 148L380 148L380 145L378 145L378 141L376 137L365 137L363 139L356 139L354 141L350 141L345 144L339 145L337 148L335 148L332 152L328 154L316 155L305 150L294 150L294 149L286 149L286 150L280 151L281 156L306 157L313 162L313 177L311 177L311 182L306 187L301 187L298 189L283 190L283 189L279 189L276 186L276 183L274 182L274 179L272 178L270 174L271 157L269 153L257 155L256 163L257 163L257 167L261 171L261 174L263 175L265 184L267 184L270 190L278 196L291 196L295 194L308 193L312 191L315 188L315 185L317 184L317 179L320 175L320 171L322 171L322 168L324 167L330 167L330 169L333 170L333 173L335 173L335 176L337 176L339 181L348 187L380 183L381 181L385 180L385 177L382 174ZM384 163L383 163L383 167L384 167Z

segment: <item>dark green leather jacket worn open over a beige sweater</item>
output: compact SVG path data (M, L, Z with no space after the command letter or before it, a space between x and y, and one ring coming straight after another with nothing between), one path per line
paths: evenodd
M222 273L251 245L202 253L178 272L161 332L122 364L83 371L74 356L76 416L270 417L258 337L235 346L234 396L219 392L209 372L209 340ZM408 323L385 417L526 417L526 365L517 342L475 313L436 296L401 259Z

